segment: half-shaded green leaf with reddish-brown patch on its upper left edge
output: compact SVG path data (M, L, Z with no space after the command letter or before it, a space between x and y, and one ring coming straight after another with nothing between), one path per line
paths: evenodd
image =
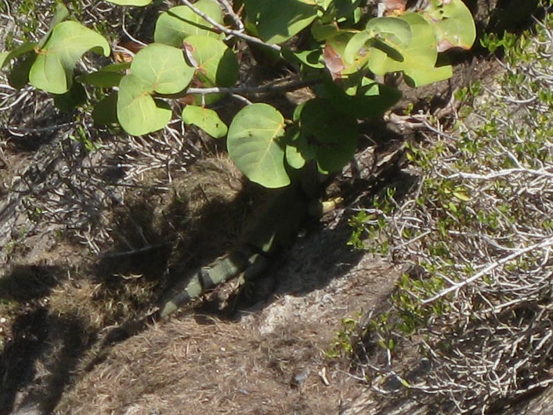
M196 67L198 86L232 86L238 80L238 61L236 56L221 40L203 35L189 36L184 41L191 53ZM206 95L205 104L212 104L222 94ZM198 104L200 98L196 100Z

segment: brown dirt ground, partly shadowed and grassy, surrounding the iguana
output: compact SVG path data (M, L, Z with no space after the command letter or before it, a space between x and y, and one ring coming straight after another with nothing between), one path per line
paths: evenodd
M485 16L489 2L472 3ZM458 59L451 83L415 104L494 71ZM138 328L173 279L234 245L265 195L197 134L140 147L106 132L86 152L63 132L3 131L0 415L369 413L348 356L327 352L342 320L383 302L401 273L346 243L373 156L411 131L368 126L331 187L346 202L306 223L262 279ZM177 155L171 168L149 168L159 154Z

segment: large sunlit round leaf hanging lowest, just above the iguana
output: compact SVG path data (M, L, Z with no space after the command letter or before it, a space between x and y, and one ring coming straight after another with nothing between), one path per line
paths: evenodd
M284 167L284 118L269 104L251 104L238 111L227 135L230 158L247 178L265 187L290 184Z

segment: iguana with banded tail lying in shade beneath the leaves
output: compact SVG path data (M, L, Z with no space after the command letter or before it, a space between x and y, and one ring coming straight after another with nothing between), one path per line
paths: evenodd
M394 165L403 149L404 145L400 145L375 162L370 178L373 183ZM263 273L268 259L290 245L308 216L320 216L335 205L336 200L323 203L319 199L326 179L315 165L304 167L292 178L292 184L275 192L261 216L245 230L237 248L169 289L158 304L158 316L167 317L227 279L242 275L248 280Z

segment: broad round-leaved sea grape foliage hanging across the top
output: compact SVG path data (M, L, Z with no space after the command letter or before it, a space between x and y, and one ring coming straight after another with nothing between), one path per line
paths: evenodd
M182 111L185 123L218 138L225 136L225 124L206 107L227 93L241 93L235 92L241 91L235 87L237 50L247 40L260 48L257 53L288 62L300 77L319 84L317 98L301 104L293 120L259 103L238 111L230 124L227 146L238 168L256 183L281 187L290 183L288 167L315 160L321 172L336 172L348 163L357 146L358 119L380 116L400 98L375 75L403 71L413 86L444 80L451 66L436 66L438 53L469 48L476 36L462 0L433 0L420 10L375 19L362 15L358 0L244 0L238 24L238 15L225 19L216 0L184 3L160 14L154 43L139 50L130 66L111 62L75 77L84 53L109 56L110 47L99 33L68 20L59 4L41 42L1 53L0 67L17 61L8 76L12 86L29 82L60 95L56 103L66 111L83 104L86 95L99 98L95 122L118 122L133 135L164 128L174 116L169 100L184 98L181 102L193 105ZM239 30L228 26L232 21ZM294 46L288 41L297 35L301 42ZM86 88L95 92L87 94Z

